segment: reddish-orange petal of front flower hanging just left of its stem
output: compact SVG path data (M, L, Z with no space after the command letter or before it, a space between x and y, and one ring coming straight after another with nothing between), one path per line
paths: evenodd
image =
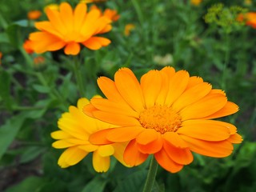
M123 154L123 159L129 166L138 166L142 164L142 162L145 162L147 157L148 154L142 154L138 150L135 139L129 142Z

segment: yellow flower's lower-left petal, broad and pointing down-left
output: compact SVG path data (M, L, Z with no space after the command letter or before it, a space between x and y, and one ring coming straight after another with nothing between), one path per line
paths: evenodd
M68 166L74 166L86 157L88 153L84 150L80 150L78 147L70 147L66 149L58 158L58 165L62 168Z

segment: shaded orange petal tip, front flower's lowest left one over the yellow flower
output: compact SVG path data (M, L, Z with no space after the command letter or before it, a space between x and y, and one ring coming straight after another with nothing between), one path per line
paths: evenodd
M113 143L106 139L106 134L108 134L111 130L113 129L99 130L94 134L91 134L89 142L91 142L94 145L106 145Z

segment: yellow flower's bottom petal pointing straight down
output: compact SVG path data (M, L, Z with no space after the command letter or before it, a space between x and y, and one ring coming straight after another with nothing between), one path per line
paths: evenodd
M93 154L93 166L97 172L106 172L110 169L110 156L102 157L98 153L98 150L95 150Z

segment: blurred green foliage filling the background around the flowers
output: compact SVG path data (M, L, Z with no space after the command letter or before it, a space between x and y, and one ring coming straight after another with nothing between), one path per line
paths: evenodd
M106 174L96 173L90 155L76 166L57 165L61 151L51 147L50 132L57 130L60 115L76 105L77 86L73 58L62 51L26 54L22 43L34 31L26 14L61 1L0 0L0 190L15 191L139 191L149 161L125 168L111 164ZM78 1L70 1L76 5ZM241 6L256 11L256 2L222 1L226 8ZM250 2L250 1L249 1ZM225 89L238 104L237 114L226 118L238 127L244 142L228 158L194 154L194 162L178 174L159 167L155 191L255 191L256 190L256 30L250 26L206 23L204 15L216 1L193 6L190 1L117 0L99 3L121 15L107 34L112 43L98 51L83 49L79 55L86 97L100 94L96 79L127 66L138 78L150 69L174 66L201 76L214 88ZM40 20L44 20L43 14ZM135 25L130 36L126 24ZM230 26L228 26L230 27ZM225 70L223 72L223 70ZM224 73L224 74L223 74ZM149 159L148 159L149 160Z

